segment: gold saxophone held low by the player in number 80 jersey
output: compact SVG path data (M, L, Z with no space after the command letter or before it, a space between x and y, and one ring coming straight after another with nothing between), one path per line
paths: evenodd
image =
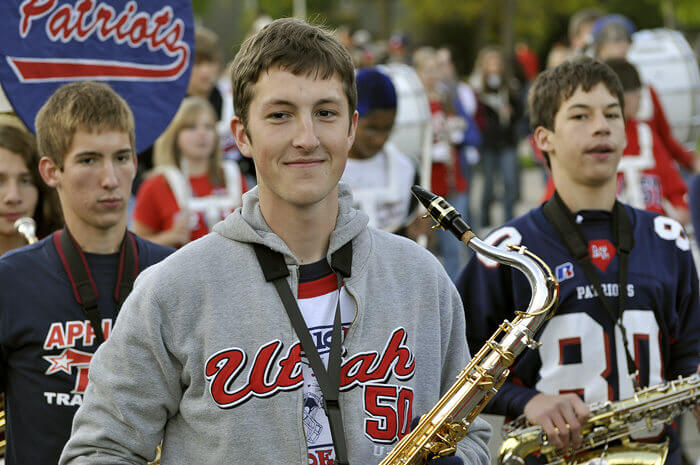
M506 439L499 450L498 463L522 465L526 456L540 452L540 458L544 457L547 464L577 465L594 460L611 465L662 465L668 453L668 440L639 443L630 440L630 436L671 423L698 401L700 375L694 374L639 390L628 399L593 404L581 428L581 447L568 451L555 449L540 426L532 426L519 417L504 425ZM610 445L617 439L619 445Z

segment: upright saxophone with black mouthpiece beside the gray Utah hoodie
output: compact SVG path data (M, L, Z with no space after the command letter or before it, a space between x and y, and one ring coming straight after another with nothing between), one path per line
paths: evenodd
M466 436L471 422L505 381L508 367L525 347L538 346L533 336L551 316L559 295L558 283L549 267L525 247L503 250L490 246L475 236L445 199L419 186L411 190L436 221L434 229L442 227L476 252L523 272L532 288L532 298L527 310L516 312L512 322L500 325L437 405L421 417L380 465L417 465L454 454L457 442Z

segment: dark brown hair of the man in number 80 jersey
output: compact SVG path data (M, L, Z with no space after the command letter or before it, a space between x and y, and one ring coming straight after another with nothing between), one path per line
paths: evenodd
M587 56L570 58L554 68L540 73L527 94L527 108L530 127L534 131L539 126L554 130L554 117L561 104L569 99L580 87L585 92L600 83L620 102L620 110L625 113L625 97L617 74L608 65ZM547 166L549 154L542 152Z

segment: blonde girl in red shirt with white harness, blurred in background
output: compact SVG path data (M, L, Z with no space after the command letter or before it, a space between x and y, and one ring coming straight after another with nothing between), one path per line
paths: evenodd
M180 247L209 232L241 204L246 184L233 160L222 160L216 114L201 97L186 97L154 147L155 169L141 185L133 230Z

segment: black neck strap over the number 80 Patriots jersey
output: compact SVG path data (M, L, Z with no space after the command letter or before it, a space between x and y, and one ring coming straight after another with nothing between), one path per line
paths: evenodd
M552 198L542 207L542 211L556 230L569 253L576 259L581 268L583 268L588 282L595 287L598 298L610 315L610 318L614 324L620 328L622 342L625 346L625 356L627 358L627 371L635 389L638 388L638 371L627 346L627 330L622 324L622 313L625 311L625 294L627 292L627 266L629 264L629 256L632 252L632 247L634 247L632 222L630 221L627 211L625 211L625 207L615 200L615 205L612 210L613 243L619 257L617 312L603 294L600 278L593 268L593 263L591 263L591 257L588 253L588 241L583 235L581 228L576 223L574 214L571 213L566 204L564 204L559 193L556 191L554 192Z

